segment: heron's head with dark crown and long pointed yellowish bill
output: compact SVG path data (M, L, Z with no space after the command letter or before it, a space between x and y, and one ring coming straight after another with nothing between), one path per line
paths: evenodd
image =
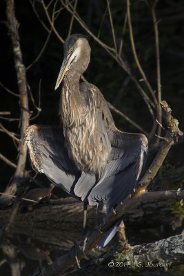
M88 40L82 34L73 34L65 40L64 58L55 90L68 72L77 72L79 75L85 72L90 62L90 52Z

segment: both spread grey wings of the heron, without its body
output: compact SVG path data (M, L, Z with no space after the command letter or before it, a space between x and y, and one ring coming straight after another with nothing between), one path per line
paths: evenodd
M25 141L36 170L43 172L70 195L88 201L90 205L106 201L108 213L136 187L147 151L144 135L112 128L108 130L108 135L112 150L100 179L94 174L81 174L69 159L61 127L30 126L25 133Z

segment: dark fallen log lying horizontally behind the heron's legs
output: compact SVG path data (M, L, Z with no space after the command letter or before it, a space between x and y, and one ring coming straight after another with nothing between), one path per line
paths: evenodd
M170 226L175 229L181 226L181 219L178 215L172 214L167 208L167 199L174 198L176 192L150 192L142 195L142 201L137 202L123 217L127 228L156 228L156 226ZM184 197L184 191L178 192L176 199L179 201ZM160 196L160 198L159 198ZM141 200L141 198L140 198ZM28 209L30 211L28 211ZM6 220L10 208L0 210L0 226ZM88 228L94 225L95 208L88 206ZM104 214L101 214L101 219ZM20 212L14 219L12 228L14 231L24 226L26 233L32 232L32 228L61 230L64 225L65 230L74 226L81 229L83 221L83 204L77 199L50 199L47 203L38 205L21 206ZM25 230L25 229L24 229Z

